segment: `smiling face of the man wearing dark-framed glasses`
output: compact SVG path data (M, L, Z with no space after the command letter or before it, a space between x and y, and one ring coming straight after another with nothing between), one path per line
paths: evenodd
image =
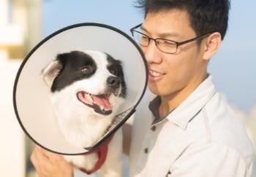
M174 9L148 13L142 25L142 33L156 39L170 39L182 42L196 36L187 12ZM189 92L189 85L206 74L206 60L203 60L203 42L178 47L175 54L161 52L151 40L148 47L141 47L149 68L148 86L152 93L166 96L181 90Z

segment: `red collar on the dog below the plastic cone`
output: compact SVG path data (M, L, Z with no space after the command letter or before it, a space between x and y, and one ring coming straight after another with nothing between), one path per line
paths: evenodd
M96 172L97 170L99 170L99 168L102 167L102 165L104 164L107 154L108 154L108 144L110 143L110 141L112 141L113 136L111 136L110 138L108 138L108 141L106 141L105 143L102 144L102 146L99 146L98 149L94 150L93 152L89 152L86 153L86 155L88 154L92 154L92 153L97 153L98 155L98 161L96 163L96 165L94 166L94 168L92 170L86 170L84 168L79 168L79 170L83 171L83 173L86 173L88 175Z

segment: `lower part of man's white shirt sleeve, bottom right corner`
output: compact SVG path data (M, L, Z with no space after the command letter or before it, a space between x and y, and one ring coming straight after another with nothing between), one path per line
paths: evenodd
M249 177L252 165L233 149L208 143L190 146L173 163L168 177Z

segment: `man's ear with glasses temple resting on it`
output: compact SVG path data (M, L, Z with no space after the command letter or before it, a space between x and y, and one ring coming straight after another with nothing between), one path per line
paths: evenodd
M214 32L206 38L204 43L205 51L203 55L204 60L209 60L219 50L219 46L222 42L222 35L219 32Z

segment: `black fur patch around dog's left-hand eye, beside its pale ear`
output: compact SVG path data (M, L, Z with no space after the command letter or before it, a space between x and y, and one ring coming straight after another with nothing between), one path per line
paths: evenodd
M62 65L59 75L54 79L51 91L56 92L81 79L92 76L97 70L97 65L90 55L84 52L72 51L57 55L56 60ZM84 72L86 68L86 72Z

